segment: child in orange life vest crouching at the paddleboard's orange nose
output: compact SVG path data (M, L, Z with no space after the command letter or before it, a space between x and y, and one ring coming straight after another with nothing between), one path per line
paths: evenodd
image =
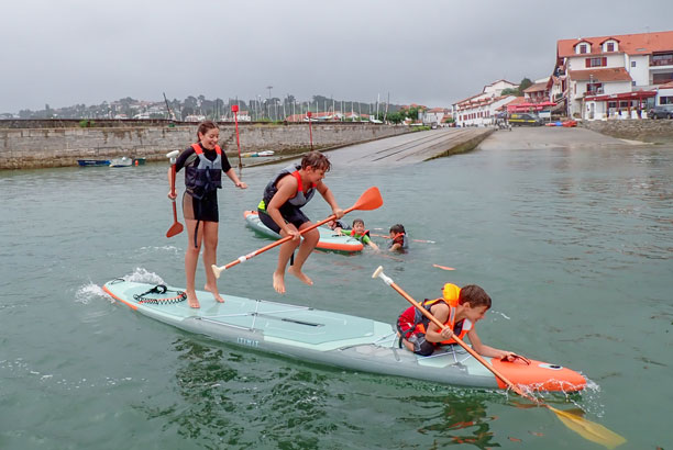
M400 347L404 344L408 350L429 357L439 347L455 344L454 336L461 340L467 336L472 348L483 357L508 361L523 359L509 350L489 347L477 336L475 325L490 308L490 297L478 285L468 284L460 289L455 284L446 283L442 297L426 299L421 306L444 324L444 329L426 318L416 306L411 306L397 319Z

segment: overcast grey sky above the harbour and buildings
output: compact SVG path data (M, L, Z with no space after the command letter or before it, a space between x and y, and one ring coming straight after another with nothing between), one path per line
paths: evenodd
M449 106L556 41L673 30L673 0L2 0L0 113L313 94Z

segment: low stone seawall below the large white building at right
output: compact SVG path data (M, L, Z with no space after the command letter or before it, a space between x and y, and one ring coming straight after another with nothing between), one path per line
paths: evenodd
M578 124L584 128L620 139L673 143L673 121L671 120L583 121Z

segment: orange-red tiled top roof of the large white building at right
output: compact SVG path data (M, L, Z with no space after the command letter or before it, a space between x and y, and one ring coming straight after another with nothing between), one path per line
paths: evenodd
M582 37L577 40L560 40L556 42L556 56L566 58L570 56L597 55L603 53L600 44L607 40L615 40L619 43L619 53L629 55L649 55L653 52L673 50L673 31L662 31L640 34L619 34L611 36ZM592 44L592 52L586 54L575 54L575 45L587 42Z

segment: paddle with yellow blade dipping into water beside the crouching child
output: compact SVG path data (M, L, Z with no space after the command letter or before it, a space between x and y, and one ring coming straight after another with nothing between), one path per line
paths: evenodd
M393 279L387 277L383 272L383 267L382 266L379 266L374 271L374 273L372 274L372 278L380 278L384 283L386 283L387 285L393 288L395 291L397 291L398 294L404 296L407 300L407 302L411 303L418 311L420 311L434 325L440 327L442 330L445 328L444 324L439 322L437 319L437 317L434 317L428 310L422 307L416 300L413 300L413 297L411 297L411 295L409 295L400 286L395 284ZM494 375L496 375L498 379L500 379L503 381L503 383L507 384L507 386L510 390L512 390L514 392L519 394L521 397L528 398L529 401L533 402L538 406L544 406L545 408L549 408L550 410L552 410L556 415L556 417L559 417L559 420L561 420L563 423L563 425L565 425L566 427L569 427L570 429L572 429L573 431L575 431L576 434L578 434L583 438L585 438L587 440L591 440L593 442L599 443L602 446L605 446L608 449L614 449L615 447L621 446L622 443L626 442L626 439L624 437L617 435L614 431L610 431L609 429L607 429L603 425L595 424L595 423L593 423L591 420L585 419L582 416L578 416L576 414L572 414L572 413L570 413L567 410L556 409L556 408L548 405L547 403L544 403L544 402L542 402L542 401L540 401L540 400L538 400L536 397L532 397L532 396L526 394L521 389L519 389L511 381L509 381L507 378L505 378L505 375L503 375L498 370L496 370L493 365L490 365L484 358L482 358L482 356L479 353L474 351L472 349L472 347L466 345L457 336L454 335L453 336L453 340L455 340L461 347L463 347L470 355L472 355L477 361L479 361L486 369L488 369L490 372L493 372Z

